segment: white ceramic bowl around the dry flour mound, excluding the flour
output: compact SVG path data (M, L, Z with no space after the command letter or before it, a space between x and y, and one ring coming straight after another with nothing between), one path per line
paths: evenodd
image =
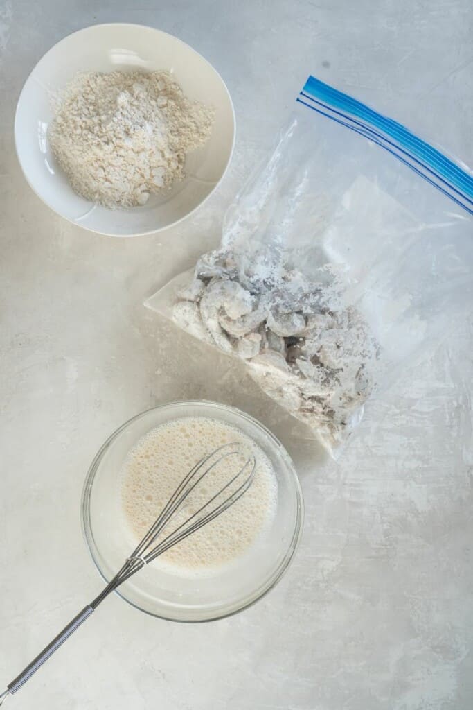
M170 192L151 196L143 207L106 209L76 195L52 155L52 97L77 72L132 70L172 72L190 99L215 109L215 122L206 145L189 153L187 177ZM16 152L30 187L69 222L111 236L150 234L194 212L223 178L234 141L233 104L218 72L181 40L141 25L95 25L61 40L31 72L16 108Z

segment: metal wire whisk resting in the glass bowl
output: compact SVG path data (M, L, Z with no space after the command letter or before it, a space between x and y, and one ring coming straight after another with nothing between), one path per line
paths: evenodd
M181 542L181 540L184 540L185 537L196 532L196 530L200 530L200 528L210 523L211 520L214 520L218 515L221 515L221 513L230 508L230 506L233 506L233 503L243 496L243 493L250 487L253 476L255 475L256 461L255 457L252 455L245 460L245 464L238 469L238 472L233 475L210 500L204 503L199 510L192 513L183 523L177 525L177 528L172 529L171 532L167 532L169 528L172 528L172 518L182 509L184 501L186 501L191 492L199 486L202 479L208 476L212 470L216 469L217 466L221 465L226 459L235 456L243 456L240 444L235 442L223 444L223 446L218 447L218 449L215 449L211 454L208 454L208 456L203 457L193 466L187 476L185 476L179 486L177 486L160 515L158 515L155 522L143 537L143 540L135 547L130 557L127 557L115 577L108 582L94 601L84 606L82 611L62 629L56 638L9 683L5 692L0 695L0 705L8 695L16 693L26 681L30 679L38 668L52 656L65 640L91 616L97 606L106 599L108 594L111 594L111 592L123 584L124 581L130 579L130 577L136 574L145 564L152 562L153 559L156 559L156 557L162 555L163 552L169 550L169 547L177 545L178 542ZM164 535L164 537L158 542L157 538L160 537L160 535Z

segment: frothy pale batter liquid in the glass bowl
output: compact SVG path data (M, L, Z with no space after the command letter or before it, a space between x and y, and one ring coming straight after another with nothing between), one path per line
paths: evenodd
M217 447L232 442L241 445L242 457L226 458L205 476L187 498L179 517L173 519L169 532L212 498L248 457L254 456L255 476L250 488L218 518L163 553L155 564L199 571L243 555L274 517L277 482L267 455L250 437L211 417L182 417L160 425L141 437L128 453L121 471L121 498L126 522L138 542L192 466ZM235 486L225 496L233 490Z

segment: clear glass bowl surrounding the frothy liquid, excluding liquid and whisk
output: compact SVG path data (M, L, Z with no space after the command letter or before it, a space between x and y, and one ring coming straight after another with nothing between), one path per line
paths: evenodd
M82 526L101 576L109 581L135 547L121 510L123 460L135 442L178 417L213 417L251 437L272 461L277 508L269 528L242 557L209 576L193 579L158 569L152 563L117 591L133 606L172 621L211 621L229 616L260 599L281 579L301 537L303 500L294 464L282 444L260 422L237 409L212 402L162 405L133 417L101 447L82 494Z

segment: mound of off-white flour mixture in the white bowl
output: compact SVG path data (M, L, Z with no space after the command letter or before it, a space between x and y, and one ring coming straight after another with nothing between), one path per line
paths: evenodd
M136 207L184 177L186 153L211 133L213 109L169 72L79 74L48 132L72 189L104 207Z

